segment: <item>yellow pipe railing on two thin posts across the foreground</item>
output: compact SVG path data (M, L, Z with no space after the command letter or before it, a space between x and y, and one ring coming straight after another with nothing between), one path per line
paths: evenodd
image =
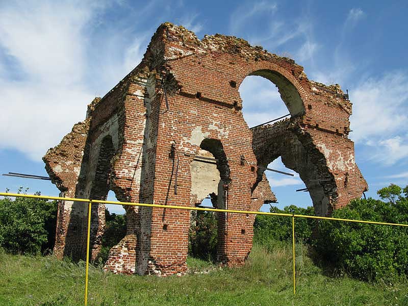
M364 221L364 220L352 220L352 219L341 219L341 218L330 218L330 217L318 217L318 216L306 216L306 215L296 215L296 214L279 214L279 213L241 211L241 210L199 208L199 207L188 207L188 206L158 205L158 204L131 203L131 202L119 202L119 201L104 201L104 200L91 200L91 199L80 199L80 198L69 198L69 197L58 197L58 196L44 196L44 195L32 195L32 194L19 194L19 193L5 193L5 192L0 192L0 196L27 197L27 198L49 199L49 200L88 202L87 256L86 256L86 271L85 271L85 306L87 306L87 303L88 303L88 270L89 270L89 247L90 247L90 226L91 226L91 206L92 206L92 203L103 203L103 204L114 204L114 205L129 205L129 206L139 206L139 207L156 207L156 208L194 210L194 211L210 211L210 212L221 212L221 213L224 212L224 213L234 213L234 214L252 214L252 215L269 215L269 216L292 217L293 294L296 293L296 278L295 278L295 276L296 276L296 273L295 273L295 218L309 218L309 219L321 219L321 220L345 221L345 222L357 222L357 223L368 223L368 224L393 225L393 226L405 226L405 227L408 227L408 224L387 223L387 222L377 222L377 221Z

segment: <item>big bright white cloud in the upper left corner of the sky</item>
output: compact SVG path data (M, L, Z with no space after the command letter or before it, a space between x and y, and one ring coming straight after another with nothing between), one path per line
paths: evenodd
M82 85L82 31L93 10L80 3L2 6L0 44L18 63L23 78L13 81L6 79L8 71L3 73L1 148L18 149L38 161L72 123L84 119L93 95Z

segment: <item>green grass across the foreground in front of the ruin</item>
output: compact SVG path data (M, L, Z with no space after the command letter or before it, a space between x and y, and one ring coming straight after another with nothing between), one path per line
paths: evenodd
M408 283L369 284L330 277L297 246L292 288L291 246L255 245L242 268L216 268L189 258L183 277L123 276L91 267L89 305L408 305ZM194 273L210 271L209 273ZM0 305L83 305L84 263L0 252Z

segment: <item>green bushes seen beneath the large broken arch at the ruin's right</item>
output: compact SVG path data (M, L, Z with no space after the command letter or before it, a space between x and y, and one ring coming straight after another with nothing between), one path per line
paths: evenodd
M313 207L300 208L294 205L283 210L271 207L271 213L314 215ZM310 242L315 221L307 218L295 218L295 239L297 242ZM257 215L253 224L254 243L273 247L276 241L292 240L292 218L284 216Z

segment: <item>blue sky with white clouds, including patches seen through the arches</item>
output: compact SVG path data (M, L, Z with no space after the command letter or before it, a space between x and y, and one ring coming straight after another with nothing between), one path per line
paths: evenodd
M199 38L221 33L262 45L338 83L353 103L350 138L367 195L408 184L406 1L0 2L0 172L46 175L41 157L142 58L160 23ZM240 87L249 126L288 113L274 84ZM277 160L272 168L284 169ZM279 207L308 206L298 176L268 173ZM0 176L0 190L58 195L48 181ZM114 209L113 211L118 211Z

